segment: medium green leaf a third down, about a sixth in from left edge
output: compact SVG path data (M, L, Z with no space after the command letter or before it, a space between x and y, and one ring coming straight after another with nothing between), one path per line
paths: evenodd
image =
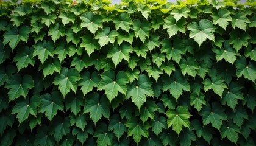
M34 44L34 48L33 56L38 56L42 64L46 61L48 56L53 57L54 55L54 44L52 41L39 41L37 44Z

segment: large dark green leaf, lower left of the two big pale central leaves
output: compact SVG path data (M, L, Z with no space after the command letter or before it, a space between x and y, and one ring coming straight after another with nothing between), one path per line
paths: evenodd
M107 98L105 96L99 97L98 93L88 95L84 113L90 113L91 120L93 120L95 125L102 116L108 119L110 117L110 109Z

